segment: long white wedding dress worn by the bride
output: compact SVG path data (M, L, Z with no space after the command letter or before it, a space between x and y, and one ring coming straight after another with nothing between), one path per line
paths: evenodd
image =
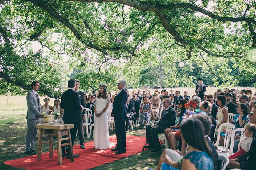
M96 98L96 113L100 113L106 107L109 98ZM95 149L110 148L109 132L108 132L108 109L100 116L94 117L94 147Z

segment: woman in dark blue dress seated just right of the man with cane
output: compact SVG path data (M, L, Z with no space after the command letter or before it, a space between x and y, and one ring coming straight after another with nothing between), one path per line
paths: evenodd
M187 103L187 101L185 99L181 99L179 100L178 102L178 108L175 109L175 112L178 114L178 117L179 117L179 120L178 120L178 123L174 126L171 126L170 128L166 128L164 133L165 133L165 136L166 138L168 139L169 141L169 133L171 134L171 132L175 129L180 129L180 125L181 125L181 121L183 120L183 115L185 114L186 115L186 107L185 107L185 104ZM178 112L180 111L180 112Z

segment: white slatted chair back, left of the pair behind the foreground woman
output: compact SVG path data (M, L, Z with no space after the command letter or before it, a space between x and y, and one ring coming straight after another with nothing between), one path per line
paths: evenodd
M229 141L230 141L230 138L231 138L232 131L235 129L235 125L233 125L231 123L223 123L219 126L215 146L219 146L220 133L221 133L221 130L222 130L223 127L226 127L226 132L225 132L224 145L223 145L222 152L226 152L226 151L228 151Z

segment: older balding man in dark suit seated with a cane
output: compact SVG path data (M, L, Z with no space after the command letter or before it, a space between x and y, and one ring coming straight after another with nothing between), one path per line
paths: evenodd
M146 137L147 143L149 143L149 145L145 146L145 148L153 148L151 152L161 151L161 146L158 140L158 134L164 133L164 130L166 128L175 125L176 113L175 110L172 107L170 107L170 98L165 98L162 103L164 105L164 108L166 109L162 111L160 121L155 126L146 126Z

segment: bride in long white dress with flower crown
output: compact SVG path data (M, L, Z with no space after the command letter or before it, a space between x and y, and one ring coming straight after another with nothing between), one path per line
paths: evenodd
M108 132L108 107L110 105L110 97L107 94L105 85L99 86L95 106L94 106L94 147L95 149L110 148L109 132Z

